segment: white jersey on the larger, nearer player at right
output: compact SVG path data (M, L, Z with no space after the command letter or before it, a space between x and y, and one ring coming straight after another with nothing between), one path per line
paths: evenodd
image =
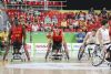
M103 30L102 28L99 29L101 35L102 35L102 42L109 43L110 42L110 34L109 34L109 29Z

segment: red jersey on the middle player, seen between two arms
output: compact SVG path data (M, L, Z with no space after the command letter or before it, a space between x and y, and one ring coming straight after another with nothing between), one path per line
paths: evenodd
M57 34L57 31L59 32L59 34ZM62 31L53 30L52 40L53 40L53 42L62 42Z

